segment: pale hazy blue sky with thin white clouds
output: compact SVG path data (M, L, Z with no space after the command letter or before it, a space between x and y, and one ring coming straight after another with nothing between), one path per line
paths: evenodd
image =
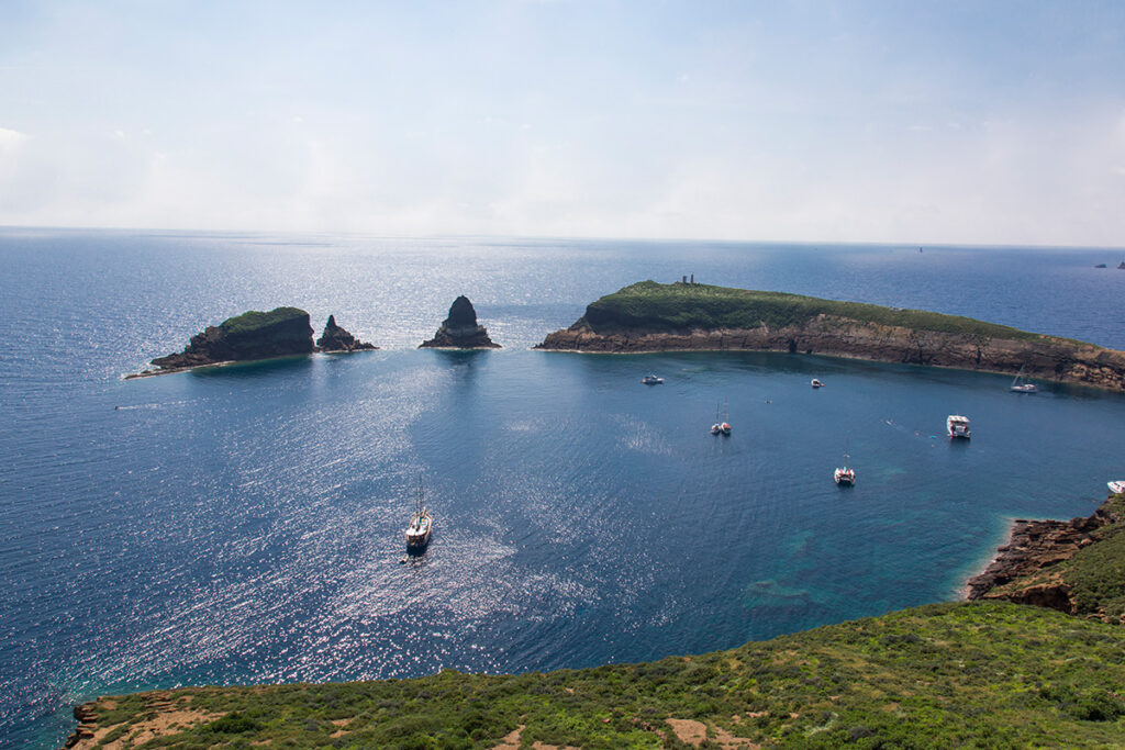
M1118 0L4 0L0 225L1125 246Z

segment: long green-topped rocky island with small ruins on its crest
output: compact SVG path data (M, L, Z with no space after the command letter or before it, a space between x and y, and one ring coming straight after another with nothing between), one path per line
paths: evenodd
M1125 390L1125 352L972 318L783 292L641 281L536 349L774 351L1016 373Z

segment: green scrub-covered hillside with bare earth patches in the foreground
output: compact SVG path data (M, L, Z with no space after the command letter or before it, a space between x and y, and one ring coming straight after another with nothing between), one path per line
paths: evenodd
M939 604L652 663L184 688L80 712L82 748L1120 747L1125 630Z

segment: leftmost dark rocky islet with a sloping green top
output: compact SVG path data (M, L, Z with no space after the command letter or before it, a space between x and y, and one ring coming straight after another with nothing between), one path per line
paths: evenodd
M158 356L152 363L159 368L158 372L174 372L204 364L312 354L313 351L308 313L296 307L278 307L269 313L250 310L217 326L207 326L191 337L182 352Z

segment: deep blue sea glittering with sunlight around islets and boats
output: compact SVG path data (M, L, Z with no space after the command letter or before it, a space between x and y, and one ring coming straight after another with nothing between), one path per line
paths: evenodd
M1125 349L1123 259L2 229L0 744L60 747L98 695L631 662L957 598L1012 518L1088 515L1125 478L1125 396L530 347L694 274ZM462 293L504 349L417 350ZM123 379L280 305L381 349ZM403 563L420 476L435 531Z

